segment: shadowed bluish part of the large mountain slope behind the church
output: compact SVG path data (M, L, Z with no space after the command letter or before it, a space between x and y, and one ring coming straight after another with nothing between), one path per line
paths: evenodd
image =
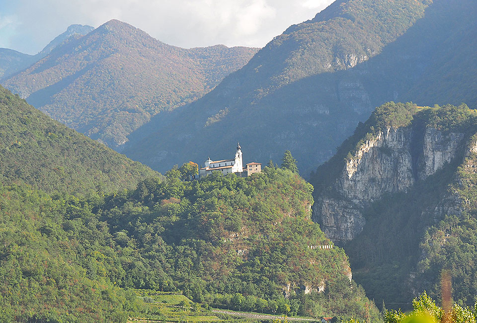
M400 2L389 3L398 5ZM337 10L341 5L333 4L318 16L326 13L323 19L328 18L335 12L331 8ZM376 8L381 10L383 6ZM190 159L193 151L199 152L193 156L198 162L208 154L224 156L230 142L240 141L244 153L261 162L270 158L277 161L284 150L290 149L307 176L332 156L335 147L352 134L359 121L365 121L375 106L386 101L414 100L419 104L465 101L477 106L477 94L472 90L477 84L472 63L477 53L476 37L471 37L477 30L476 13L475 1L436 0L426 8L422 19L368 61L335 72L330 67L326 73L283 85L261 99L256 98L255 94L261 93L257 90L250 99L237 88L249 83L258 88L254 82L261 81L258 77L262 67L254 72L256 77L252 73L245 74L245 70L253 67L262 53L276 48L272 41L242 70L226 78L197 103L184 107L183 114L177 113L167 120L153 119L147 126L149 130L163 130L156 130L144 142L136 142L135 134L131 135L131 145L124 152L162 169L167 168L168 162ZM387 11L382 15L387 17ZM302 29L315 24L307 23L309 27ZM348 32L347 28L336 30ZM292 32L286 36L291 39L300 34ZM327 48L331 44L323 41L320 46ZM278 49L274 56L287 54L280 54ZM283 69L282 63L278 62L277 66ZM225 116L220 111L226 109ZM221 116L221 120L204 127L214 115ZM184 127L184 120L189 117L190 123ZM179 124L181 133L174 130L179 129Z

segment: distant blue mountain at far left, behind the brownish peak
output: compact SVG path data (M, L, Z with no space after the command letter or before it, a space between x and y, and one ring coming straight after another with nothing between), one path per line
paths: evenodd
M0 48L0 80L7 79L48 55L55 47L72 36L85 35L94 28L87 25L71 25L68 29L55 37L41 52L36 55L23 54L11 49Z

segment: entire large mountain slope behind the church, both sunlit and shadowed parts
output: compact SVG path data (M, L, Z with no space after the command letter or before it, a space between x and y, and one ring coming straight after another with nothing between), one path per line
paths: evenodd
M197 102L153 118L124 153L163 169L239 141L261 162L291 150L307 176L386 101L476 106L476 13L471 0L336 1Z

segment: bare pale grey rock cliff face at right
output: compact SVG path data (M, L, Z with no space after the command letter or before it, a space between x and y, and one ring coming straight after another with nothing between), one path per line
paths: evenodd
M366 224L363 208L434 174L453 160L463 139L462 133L432 127L379 132L357 148L331 187L316 197L314 220L332 241L352 240Z

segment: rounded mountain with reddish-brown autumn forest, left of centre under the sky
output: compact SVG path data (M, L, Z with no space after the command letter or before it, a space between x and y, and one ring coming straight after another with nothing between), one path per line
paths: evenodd
M183 49L111 20L2 84L52 118L118 148L153 115L201 97L256 51Z

